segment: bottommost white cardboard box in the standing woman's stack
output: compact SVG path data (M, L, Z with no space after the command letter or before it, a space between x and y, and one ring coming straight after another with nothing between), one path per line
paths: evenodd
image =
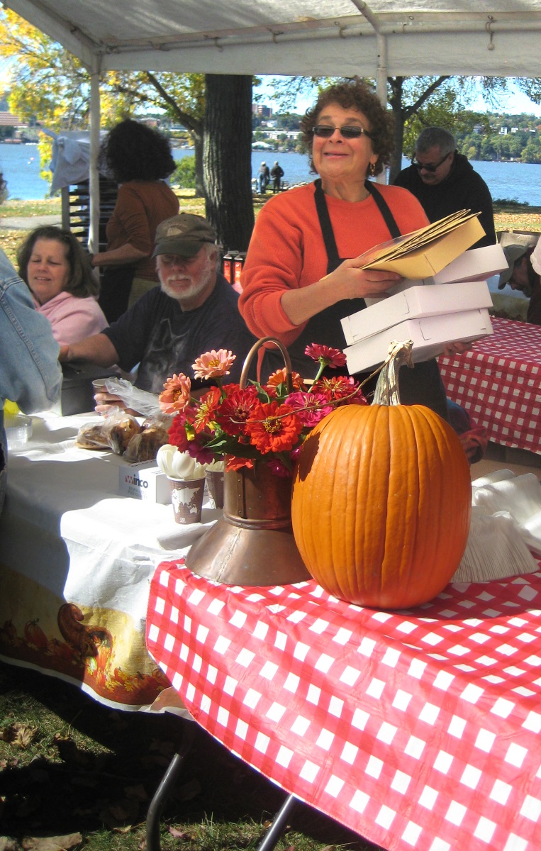
M479 340L492 333L488 311L481 308L443 316L407 319L357 341L353 346L346 347L344 353L347 368L353 375L367 372L383 363L392 340L413 340L413 362L419 363L440 355L448 343Z

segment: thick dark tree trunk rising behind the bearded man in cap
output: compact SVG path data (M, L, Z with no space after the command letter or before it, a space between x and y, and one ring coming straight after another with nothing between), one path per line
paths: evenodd
M225 250L246 251L253 231L252 77L205 75L205 214Z

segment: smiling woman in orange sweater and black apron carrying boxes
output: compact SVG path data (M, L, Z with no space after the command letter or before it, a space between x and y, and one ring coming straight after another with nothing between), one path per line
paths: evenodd
M343 349L340 319L364 309L365 296L381 296L401 280L395 272L362 269L359 255L429 221L411 192L367 180L390 161L393 120L360 79L323 90L301 130L320 177L265 203L248 246L239 306L248 328L281 340L293 369L310 379L317 365L310 374L305 347ZM268 348L259 363L262 380L282 365L277 349ZM427 405L447 420L435 359L401 369L400 394L403 403Z

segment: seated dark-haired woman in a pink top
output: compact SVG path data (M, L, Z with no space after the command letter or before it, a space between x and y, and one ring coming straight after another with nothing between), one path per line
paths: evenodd
M96 299L100 283L92 273L88 254L71 231L37 227L20 245L17 262L37 311L48 318L60 346L77 343L107 327Z

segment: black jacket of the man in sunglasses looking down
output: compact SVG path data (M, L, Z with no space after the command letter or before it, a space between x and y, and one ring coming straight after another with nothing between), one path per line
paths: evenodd
M427 186L421 180L419 171L410 165L402 168L396 176L396 186L403 186L419 199L430 221L443 219L457 210L471 210L481 213L479 221L486 233L485 237L472 248L493 245L497 242L494 228L493 199L487 184L480 174L474 171L464 154L455 154L453 166L447 178L436 186Z

